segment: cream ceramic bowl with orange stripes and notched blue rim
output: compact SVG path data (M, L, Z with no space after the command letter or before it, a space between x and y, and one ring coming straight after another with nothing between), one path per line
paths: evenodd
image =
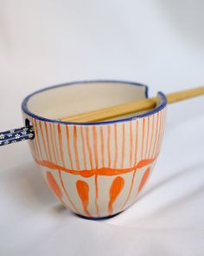
M120 213L137 199L150 177L163 139L166 97L155 109L120 120L58 121L93 109L147 97L129 82L76 82L29 95L23 117L33 126L29 147L48 187L74 213L101 218Z

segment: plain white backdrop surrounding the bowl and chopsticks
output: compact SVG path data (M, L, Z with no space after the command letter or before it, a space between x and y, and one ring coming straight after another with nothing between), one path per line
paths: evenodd
M22 98L84 79L204 83L204 2L0 0L0 130ZM61 207L27 143L0 148L1 255L203 255L203 97L169 106L162 153L137 203L110 220Z

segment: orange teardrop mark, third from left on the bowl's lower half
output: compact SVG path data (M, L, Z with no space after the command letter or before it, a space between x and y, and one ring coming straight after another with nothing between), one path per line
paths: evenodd
M117 199L118 195L121 193L123 187L124 187L124 178L118 176L115 178L114 181L112 181L112 186L110 187L110 190L109 190L109 196L110 196L110 200L108 204L109 215L112 215L113 203Z

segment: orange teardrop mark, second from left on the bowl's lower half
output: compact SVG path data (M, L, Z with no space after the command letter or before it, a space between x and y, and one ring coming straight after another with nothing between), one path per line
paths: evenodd
M88 184L85 181L77 181L76 187L77 187L77 191L80 196L80 200L82 202L86 215L89 217L92 217L92 215L88 211L88 198L89 198Z

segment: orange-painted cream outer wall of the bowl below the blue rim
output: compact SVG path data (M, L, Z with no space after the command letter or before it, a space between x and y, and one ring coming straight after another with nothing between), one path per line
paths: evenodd
M89 217L105 216L128 207L143 188L159 153L165 114L163 108L135 121L96 126L30 118L35 140L29 144L49 187L64 205ZM69 181L74 182L71 187L69 175L79 177ZM101 207L104 189L110 194L106 210Z

